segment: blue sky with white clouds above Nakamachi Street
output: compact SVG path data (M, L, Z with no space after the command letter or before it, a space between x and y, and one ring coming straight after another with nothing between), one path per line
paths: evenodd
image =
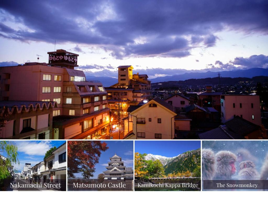
M31 163L31 165L36 165L37 163L43 161L46 152L52 147L59 147L66 141L53 140L53 141L40 141L40 140L16 140L11 141L15 143L18 147L18 159L20 164L13 164L14 169L21 171L25 163ZM5 153L2 153L6 156Z

